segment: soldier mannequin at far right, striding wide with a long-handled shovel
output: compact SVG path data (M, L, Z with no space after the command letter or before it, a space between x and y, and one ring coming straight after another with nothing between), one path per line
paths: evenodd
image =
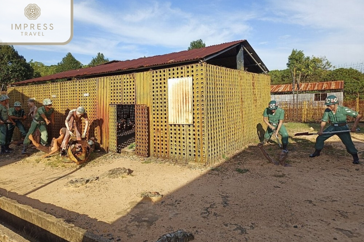
M316 138L315 151L311 155L309 155L309 157L320 156L321 149L324 148L325 140L335 135L325 134L325 132L349 130L349 127L346 124L346 116L351 116L355 118L354 125L350 131L356 131L356 126L361 119L361 115L358 114L358 112L351 110L350 108L340 106L338 103L339 100L335 95L329 95L325 99L325 105L327 106L327 108L321 119L320 131L317 132L318 136ZM324 130L326 123L329 121L331 123L330 126ZM360 164L358 151L355 148L353 141L351 140L350 133L347 132L336 135L339 136L339 138L345 145L346 151L353 156L353 164Z

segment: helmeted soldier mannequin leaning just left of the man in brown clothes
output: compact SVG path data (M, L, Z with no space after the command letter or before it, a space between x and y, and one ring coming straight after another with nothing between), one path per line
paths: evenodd
M54 108L52 108L51 99L46 98L43 100L43 106L37 109L37 113L34 116L28 134L25 136L23 142L23 151L21 152L22 154L27 153L27 147L31 143L29 135L33 134L37 128L39 128L40 131L41 144L46 145L48 143L47 124L50 123L54 123Z

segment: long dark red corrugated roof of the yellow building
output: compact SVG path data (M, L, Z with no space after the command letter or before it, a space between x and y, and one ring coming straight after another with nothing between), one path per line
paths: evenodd
M198 61L202 60L203 58L210 56L211 54L217 53L221 50L229 48L230 46L237 45L239 43L246 42L246 40L237 40L233 42L228 42L219 45L212 45L207 46L205 48L199 49L192 49L192 50L184 50L181 52L175 52L170 54L164 54L161 56L151 56L151 57L142 57L135 60L128 60L128 61L111 61L112 63L107 63L105 65L98 65L94 67L88 67L84 69L78 70L70 70L64 71L61 73L56 73L53 75L48 75L44 77L38 77L29 79L26 81L15 82L11 85L20 85L25 83L32 83L32 82L40 82L40 81L50 81L56 79L63 79L63 78L74 78L74 77L82 77L82 76L90 76L90 75L98 75L104 73L112 73L116 71L125 71L125 70L132 70L132 69L141 69L145 67L152 67L152 66L159 66L159 65L168 65L171 63L178 63L178 62L186 62L186 61Z

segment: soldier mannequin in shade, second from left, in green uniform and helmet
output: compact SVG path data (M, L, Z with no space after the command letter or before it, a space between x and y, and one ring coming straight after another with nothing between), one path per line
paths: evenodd
M27 135L27 131L25 130L25 127L24 127L23 123L21 122L21 120L27 119L27 115L25 115L24 109L21 108L20 102L15 102L14 107L9 108L8 112L9 112L9 117L16 124L16 125L13 125L13 124L8 125L9 135L7 136L7 138L8 138L7 148L11 149L11 148L9 148L9 144L11 142L11 139L13 138L13 132L15 130L15 126L17 126L19 128L19 131L23 138L25 138L25 135Z

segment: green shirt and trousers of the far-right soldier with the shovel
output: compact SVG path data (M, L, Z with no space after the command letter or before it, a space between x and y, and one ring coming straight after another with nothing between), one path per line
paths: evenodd
M336 113L334 114L331 110L326 108L324 115L321 119L323 122L329 122L331 125L324 130L323 135L319 135L316 138L315 149L321 150L324 148L324 141L330 138L335 134L325 134L325 132L332 132L332 131L341 131L341 130L349 130L348 125L346 124L346 117L351 116L356 118L358 116L358 112L351 110L350 108L343 107L338 105ZM357 153L357 149L355 148L353 141L351 140L350 132L336 134L339 136L341 141L346 147L346 150L350 154Z

